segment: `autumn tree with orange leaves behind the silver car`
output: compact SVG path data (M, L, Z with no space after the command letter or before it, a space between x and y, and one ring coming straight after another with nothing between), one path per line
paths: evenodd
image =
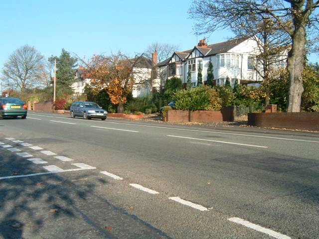
M106 89L112 104L118 106L118 113L123 113L134 85L134 62L118 53L94 55L85 65L84 77L91 79L91 87L96 91Z

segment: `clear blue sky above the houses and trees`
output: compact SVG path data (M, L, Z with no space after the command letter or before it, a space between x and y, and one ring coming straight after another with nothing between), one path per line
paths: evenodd
M62 48L86 58L118 50L134 56L153 42L190 49L203 37L192 32L190 5L191 0L3 0L0 69L24 44L45 57L59 55ZM206 37L211 44L231 36L222 30Z

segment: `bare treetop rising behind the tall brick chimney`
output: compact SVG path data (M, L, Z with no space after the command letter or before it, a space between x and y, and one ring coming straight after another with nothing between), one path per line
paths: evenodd
M178 45L154 42L152 43L152 45L149 45L146 48L143 55L151 59L152 53L157 51L158 62L161 62L165 60L166 58L170 57L174 51L178 51L178 50L179 50Z

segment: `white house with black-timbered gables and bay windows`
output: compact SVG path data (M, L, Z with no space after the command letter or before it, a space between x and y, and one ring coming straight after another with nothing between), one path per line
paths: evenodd
M256 83L263 80L255 70L255 59L258 53L257 42L249 37L211 45L207 45L205 40L200 40L194 48L174 52L170 58L160 62L157 66L160 68L160 72L167 72L166 79L176 76L184 84L187 82L187 72L190 69L192 86L196 87L198 66L201 65L203 82L205 82L208 62L211 60L214 85L225 85L226 77L228 77L233 86L235 79L240 84Z

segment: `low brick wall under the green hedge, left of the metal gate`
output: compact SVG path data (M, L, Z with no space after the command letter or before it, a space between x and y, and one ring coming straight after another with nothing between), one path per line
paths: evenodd
M177 111L167 112L168 122L220 122L234 121L234 107L227 107L221 111Z

